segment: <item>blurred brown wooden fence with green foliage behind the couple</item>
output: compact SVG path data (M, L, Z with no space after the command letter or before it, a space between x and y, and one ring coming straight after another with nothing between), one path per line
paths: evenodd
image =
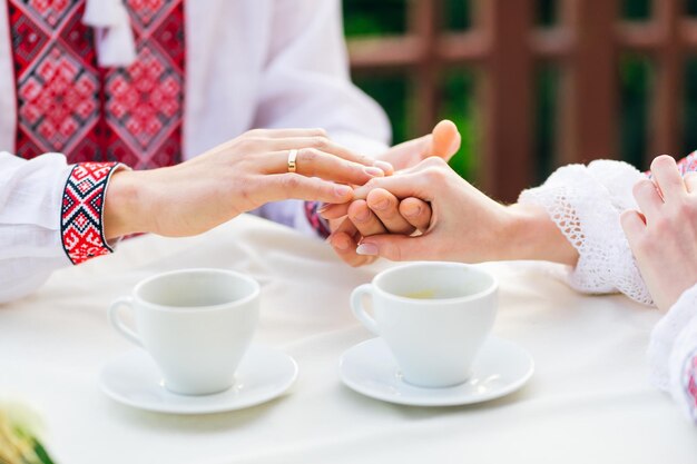
M697 149L697 0L343 0L394 142L452 119L464 178L514 200L556 167ZM697 57L697 55L696 55Z

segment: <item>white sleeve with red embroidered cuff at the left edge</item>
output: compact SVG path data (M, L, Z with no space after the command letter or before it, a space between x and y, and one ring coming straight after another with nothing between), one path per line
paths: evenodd
M33 292L55 269L110 251L101 211L119 167L71 166L59 154L26 160L0 152L0 303Z

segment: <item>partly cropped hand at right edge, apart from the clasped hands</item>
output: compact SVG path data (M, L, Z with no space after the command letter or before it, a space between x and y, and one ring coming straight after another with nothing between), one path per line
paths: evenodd
M666 312L697 283L697 175L683 178L675 159L651 162L654 180L634 187L639 211L620 220L654 303Z

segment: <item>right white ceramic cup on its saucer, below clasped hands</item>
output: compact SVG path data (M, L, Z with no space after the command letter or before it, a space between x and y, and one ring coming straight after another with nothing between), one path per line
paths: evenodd
M392 351L405 382L422 387L458 385L471 375L497 314L495 278L459 263L412 263L356 287L356 318ZM372 313L363 306L372 299Z

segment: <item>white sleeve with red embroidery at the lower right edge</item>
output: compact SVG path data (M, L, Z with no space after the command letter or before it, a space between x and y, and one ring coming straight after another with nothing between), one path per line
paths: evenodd
M697 422L697 285L656 324L647 357L651 383Z

